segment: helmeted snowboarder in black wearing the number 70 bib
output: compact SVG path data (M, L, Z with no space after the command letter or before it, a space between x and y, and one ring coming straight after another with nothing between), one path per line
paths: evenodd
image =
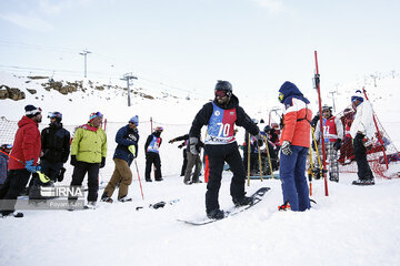
M243 126L252 135L258 135L258 126L251 121L244 110L239 106L239 100L232 93L232 85L228 81L218 81L214 90L216 99L206 103L196 115L190 129L190 150L196 153L196 145L200 140L200 131L208 125L204 152L209 158L209 182L206 193L206 212L209 218L221 219L224 213L218 203L221 186L223 164L227 162L233 173L230 194L237 206L252 203L244 196L246 172L233 135L234 124ZM258 140L260 136L258 137Z

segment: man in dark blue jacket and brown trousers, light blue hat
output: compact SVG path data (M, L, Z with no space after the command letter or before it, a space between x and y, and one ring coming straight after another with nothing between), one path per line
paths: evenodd
M117 132L116 142L118 145L113 155L116 168L104 190L104 193L101 196L102 202L112 203L111 196L119 183L118 201L132 201L132 198L128 197L128 187L132 183L132 172L130 170L130 165L133 162L133 158L138 156L138 125L139 116L134 115L129 120L129 124L122 126Z

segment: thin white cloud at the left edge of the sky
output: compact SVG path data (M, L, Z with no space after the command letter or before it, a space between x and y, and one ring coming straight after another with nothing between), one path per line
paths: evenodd
M24 16L19 13L7 13L7 14L0 13L0 19L9 21L16 25L19 25L28 30L49 31L53 29L53 27L47 21L42 20L41 18L32 17L32 16Z

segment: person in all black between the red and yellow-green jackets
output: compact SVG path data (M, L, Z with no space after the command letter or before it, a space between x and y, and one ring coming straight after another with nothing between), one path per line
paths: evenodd
M51 112L48 117L50 124L41 132L41 149L43 155L40 157L41 172L47 175L51 185L57 181L62 181L64 168L63 164L68 161L70 153L70 133L62 127L62 114L60 112ZM29 200L44 198L40 195L40 186L44 185L40 182L39 176L33 174L33 186L29 190Z

